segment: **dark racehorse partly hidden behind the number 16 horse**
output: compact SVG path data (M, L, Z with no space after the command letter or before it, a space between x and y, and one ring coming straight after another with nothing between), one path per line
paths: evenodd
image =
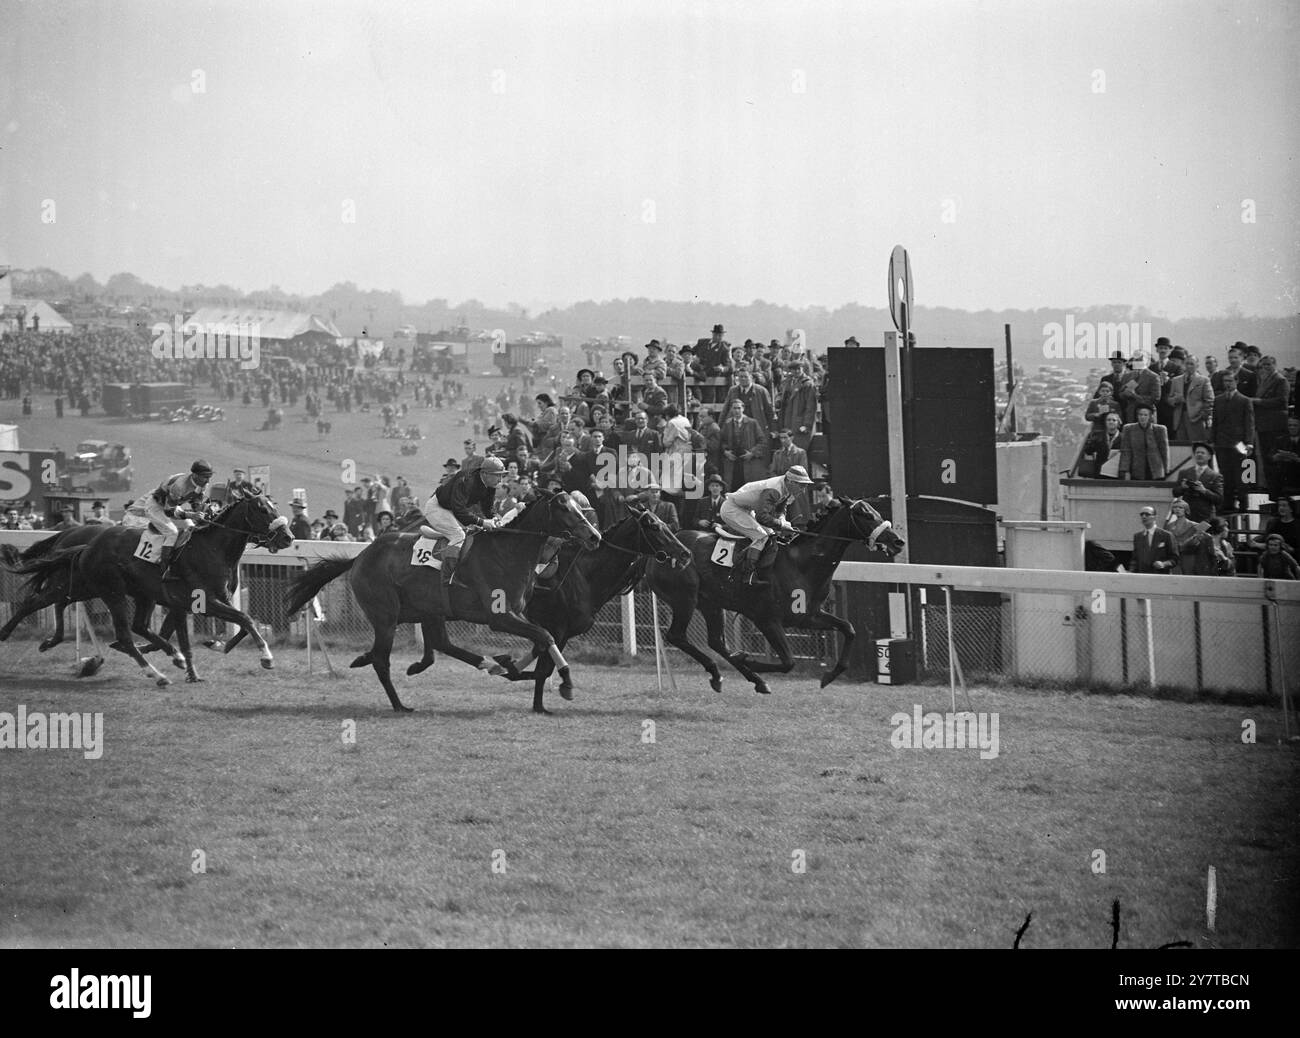
M601 546L594 552L585 552L572 544L560 550L556 558L556 580L554 584L537 585L528 604L528 618L550 631L555 645L563 652L571 637L592 630L595 614L606 602L625 594L640 583L651 555L668 567L690 565L690 550L673 536L667 523L653 511L630 509L627 518L601 535ZM425 622L421 632L424 658L407 667L407 674L426 670L433 663L434 649L481 667L484 657L473 653L459 656L456 646L447 643L445 623ZM534 657L537 666L533 670L519 670ZM550 656L538 657L534 650L517 663L508 656L493 658L506 669L507 680L523 682L532 678L533 713L550 713L542 705L546 679L555 670L555 661ZM572 700L572 688L562 685L560 696Z

